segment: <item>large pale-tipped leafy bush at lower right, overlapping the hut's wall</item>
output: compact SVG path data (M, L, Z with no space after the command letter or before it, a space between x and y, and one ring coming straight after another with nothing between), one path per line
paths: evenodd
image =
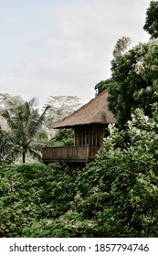
M95 221L101 237L158 235L157 107L153 118L136 110L126 131L111 127L94 163L78 177L73 208Z

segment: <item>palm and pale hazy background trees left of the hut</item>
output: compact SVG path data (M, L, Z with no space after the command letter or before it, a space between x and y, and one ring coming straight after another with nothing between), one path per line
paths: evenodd
M72 145L73 131L59 130L52 124L79 107L76 96L50 96L42 114L37 109L37 99L23 101L19 96L0 93L0 163L10 164L34 158L41 160L41 148L45 145ZM2 129L1 129L2 130Z

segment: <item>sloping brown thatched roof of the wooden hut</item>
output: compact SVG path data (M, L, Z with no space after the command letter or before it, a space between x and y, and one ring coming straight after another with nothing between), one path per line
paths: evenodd
M116 123L113 114L108 109L107 97L108 90L102 91L99 96L80 107L77 111L54 123L53 128L70 128L90 123Z

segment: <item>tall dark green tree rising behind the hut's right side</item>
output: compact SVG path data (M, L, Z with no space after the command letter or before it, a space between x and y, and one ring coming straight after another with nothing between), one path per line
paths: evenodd
M129 37L118 39L111 60L111 78L95 86L97 94L109 89L109 108L120 127L132 118L136 108L151 116L151 104L158 101L158 1L151 1L143 28L152 38L133 48Z

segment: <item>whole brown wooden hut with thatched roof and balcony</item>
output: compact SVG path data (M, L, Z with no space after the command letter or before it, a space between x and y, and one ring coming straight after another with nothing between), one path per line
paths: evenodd
M107 135L109 123L116 123L108 109L108 90L102 91L77 111L54 123L53 128L73 128L74 145L64 147L44 147L44 163L71 162L86 163L94 159L103 138Z

